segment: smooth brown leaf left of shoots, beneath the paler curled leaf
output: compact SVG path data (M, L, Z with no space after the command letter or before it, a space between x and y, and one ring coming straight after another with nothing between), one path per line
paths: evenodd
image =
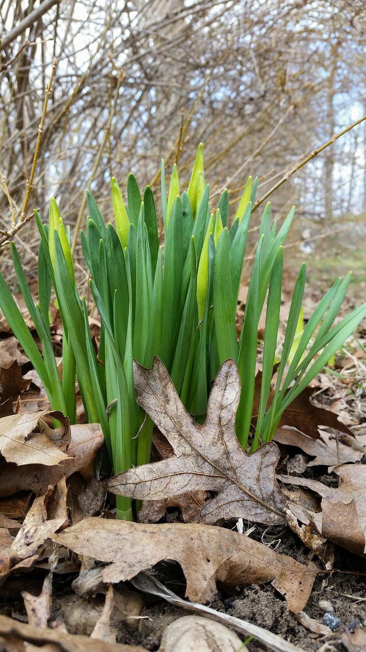
M27 464L18 469L15 464L0 467L0 496L12 496L21 489L35 492L36 496L45 494L49 484L57 484L66 475L79 471L83 478L93 475L92 465L96 453L104 445L102 428L98 423L85 423L71 426L71 441L67 456L56 466ZM59 451L51 444L55 451ZM58 453L57 453L58 454ZM0 507L1 509L1 507Z

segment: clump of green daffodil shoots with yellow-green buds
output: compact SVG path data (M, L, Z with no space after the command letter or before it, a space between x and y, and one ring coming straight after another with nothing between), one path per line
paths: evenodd
M264 209L255 261L238 341L236 305L257 179L249 177L234 218L229 220L229 195L224 190L211 212L210 188L199 145L187 192L180 192L173 168L168 194L162 164L160 245L158 216L150 186L143 192L128 177L127 203L112 179L115 226L105 224L94 198L87 193L89 216L81 231L91 292L102 327L94 349L87 305L79 297L70 251L70 231L54 199L48 225L35 212L41 241L38 252L38 304L35 304L16 246L12 256L21 292L42 342L43 355L25 325L8 286L0 275L0 307L35 366L52 409L76 419L76 378L85 414L102 426L115 473L150 460L152 421L135 400L133 359L146 367L159 357L188 411L199 422L219 367L228 358L238 365L242 393L236 434L250 451L270 441L283 411L315 378L366 314L366 304L334 324L350 275L338 279L299 332L305 287L305 265L294 285L289 321L274 395L268 407L279 329L283 243L294 216L292 209L277 230L271 206ZM49 331L51 287L63 323L63 376L59 376ZM259 413L253 427L257 331L267 297ZM109 406L108 411L106 411ZM109 415L107 415L109 413ZM131 519L131 500L117 496L117 516Z

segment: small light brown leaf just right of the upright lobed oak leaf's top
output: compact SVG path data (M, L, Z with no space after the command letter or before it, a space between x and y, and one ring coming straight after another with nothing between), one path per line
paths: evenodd
M335 441L335 436L329 432L320 433L322 439L313 439L304 435L296 428L278 428L274 434L274 441L287 446L296 446L308 455L314 456L314 460L307 462L307 466L335 466L337 464L346 464L346 462L359 462L363 453L354 451L349 446L345 446L341 441ZM339 456L338 456L339 452Z

